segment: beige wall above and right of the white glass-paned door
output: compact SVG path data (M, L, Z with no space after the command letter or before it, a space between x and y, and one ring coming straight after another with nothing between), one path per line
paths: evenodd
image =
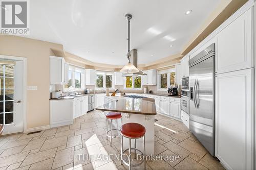
M27 128L49 125L50 48L62 45L16 36L0 36L0 55L27 58ZM8 57L7 57L8 58Z

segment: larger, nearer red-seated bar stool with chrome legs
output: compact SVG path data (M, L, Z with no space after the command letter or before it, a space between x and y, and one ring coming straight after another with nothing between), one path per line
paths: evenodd
M121 132L121 154L123 155L123 153L125 153L127 150L129 150L129 163L125 162L124 159L122 159L122 155L121 155L121 164L124 163L125 165L129 166L129 170L132 167L135 166L139 166L142 162L138 163L138 164L131 164L131 150L135 150L135 157L136 157L136 151L138 151L139 153L141 153L141 155L145 155L145 133L146 133L146 129L144 126L137 124L137 123L127 123L124 124L120 127L120 132ZM126 138L129 138L129 148L123 151L123 136ZM143 150L144 150L144 154L139 150L136 149L136 139L139 139L143 137ZM135 139L135 144L134 144L134 148L131 148L131 139Z

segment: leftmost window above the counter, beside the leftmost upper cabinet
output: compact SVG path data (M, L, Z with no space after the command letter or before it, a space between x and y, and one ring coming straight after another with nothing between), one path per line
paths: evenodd
M64 89L67 91L69 87L73 86L77 90L84 89L84 73L83 69L69 66L68 72L68 84L64 85Z

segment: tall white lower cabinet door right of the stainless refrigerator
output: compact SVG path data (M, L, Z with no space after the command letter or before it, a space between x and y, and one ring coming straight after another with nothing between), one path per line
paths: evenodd
M252 79L253 69L216 77L215 155L228 169L253 167Z

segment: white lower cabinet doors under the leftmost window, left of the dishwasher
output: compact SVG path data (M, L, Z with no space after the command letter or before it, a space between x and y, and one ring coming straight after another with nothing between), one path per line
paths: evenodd
M74 99L74 118L86 114L88 111L88 96Z

